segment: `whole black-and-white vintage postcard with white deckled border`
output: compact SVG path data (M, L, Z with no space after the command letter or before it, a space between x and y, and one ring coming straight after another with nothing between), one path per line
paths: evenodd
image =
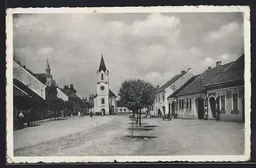
M6 13L8 163L250 159L248 6Z

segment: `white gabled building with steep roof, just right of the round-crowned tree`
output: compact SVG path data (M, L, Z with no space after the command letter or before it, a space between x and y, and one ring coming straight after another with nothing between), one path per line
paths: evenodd
M155 103L150 107L150 115L153 113L154 115L170 113L170 104L168 104L167 97L194 76L195 74L191 72L191 68L188 68L187 71L182 70L181 74L174 76L161 87L157 86Z

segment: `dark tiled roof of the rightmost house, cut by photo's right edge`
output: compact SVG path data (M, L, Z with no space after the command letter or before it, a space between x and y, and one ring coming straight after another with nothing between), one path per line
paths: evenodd
M213 78L205 86L217 85L230 81L237 81L244 79L244 55L234 61L231 66L227 67L219 75Z

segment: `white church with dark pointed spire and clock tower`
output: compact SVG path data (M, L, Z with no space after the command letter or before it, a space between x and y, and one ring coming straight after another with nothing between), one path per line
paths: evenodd
M98 82L96 84L96 97L94 98L94 113L96 115L116 114L117 96L110 90L109 70L106 69L103 56L101 56L99 69L97 70Z

